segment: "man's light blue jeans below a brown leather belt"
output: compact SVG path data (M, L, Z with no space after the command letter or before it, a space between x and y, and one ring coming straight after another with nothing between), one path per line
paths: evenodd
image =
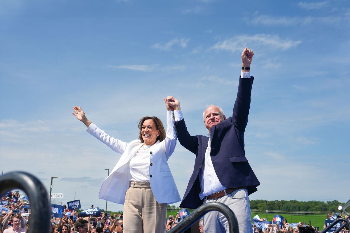
M211 202L223 203L229 206L236 215L239 233L253 233L249 198L246 189L238 189L227 196L215 200L204 199L203 205ZM229 222L221 212L210 211L203 217L203 229L205 233L229 232Z

